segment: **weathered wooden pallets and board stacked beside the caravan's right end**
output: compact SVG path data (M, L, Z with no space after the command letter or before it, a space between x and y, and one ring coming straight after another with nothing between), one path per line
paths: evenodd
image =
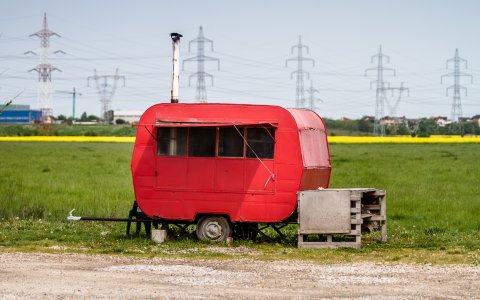
M360 248L362 231L381 230L382 241L387 239L386 195L382 190L300 192L298 215L299 248ZM312 235L318 238L309 240Z

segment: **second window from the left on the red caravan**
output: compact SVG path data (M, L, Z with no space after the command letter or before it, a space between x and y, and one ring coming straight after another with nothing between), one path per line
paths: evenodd
M188 156L215 157L216 133L215 127L190 128Z

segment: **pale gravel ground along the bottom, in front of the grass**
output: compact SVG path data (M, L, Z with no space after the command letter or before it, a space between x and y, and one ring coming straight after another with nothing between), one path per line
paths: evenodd
M0 253L1 299L478 299L480 267Z

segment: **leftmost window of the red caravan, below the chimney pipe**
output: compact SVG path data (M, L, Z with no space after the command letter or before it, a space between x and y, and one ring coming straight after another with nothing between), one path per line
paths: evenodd
M164 156L186 156L187 132L187 128L158 127L157 154Z

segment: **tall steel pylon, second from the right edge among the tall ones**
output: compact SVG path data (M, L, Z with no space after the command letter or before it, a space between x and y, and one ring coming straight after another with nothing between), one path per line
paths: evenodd
M377 72L377 80L370 82L370 88L375 83L376 88L376 96L375 96L375 123L373 125L373 134L385 136L385 124L382 122L382 119L385 117L385 102L387 101L386 91L390 87L390 83L386 82L383 79L384 71L391 71L393 72L393 76L395 76L395 69L386 68L383 66L383 60L386 59L387 63L390 63L390 56L382 53L382 45L380 45L378 54L375 54L371 58L371 62L373 63L377 60L377 67L365 69L365 76L368 75L369 71L376 71Z

